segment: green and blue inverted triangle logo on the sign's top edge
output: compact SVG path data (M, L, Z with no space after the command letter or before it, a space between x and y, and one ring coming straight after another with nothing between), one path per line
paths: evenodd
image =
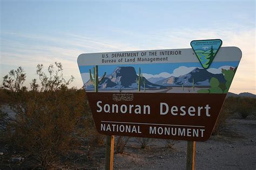
M220 39L193 40L190 45L203 68L207 69L211 66L215 55L218 53L222 41Z

